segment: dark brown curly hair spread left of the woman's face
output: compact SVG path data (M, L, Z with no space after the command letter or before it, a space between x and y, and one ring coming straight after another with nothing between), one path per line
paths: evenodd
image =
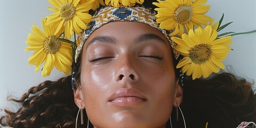
M58 81L45 81L31 87L27 93L17 99L22 107L16 112L5 109L7 115L0 123L11 127L75 127L78 111L71 89L71 77ZM4 120L6 123L3 123Z

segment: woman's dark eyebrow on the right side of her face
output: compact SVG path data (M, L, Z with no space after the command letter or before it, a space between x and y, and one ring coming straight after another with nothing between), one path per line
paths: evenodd
M155 34L142 34L142 35L139 35L138 38L136 39L136 43L146 42L146 41L150 41L150 40L154 40L154 41L157 41L159 43L165 44L164 39L161 38L158 35L155 35Z

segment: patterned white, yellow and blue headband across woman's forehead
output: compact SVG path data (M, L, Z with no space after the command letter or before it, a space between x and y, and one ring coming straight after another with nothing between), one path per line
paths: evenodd
M165 37L169 40L175 57L178 57L178 53L175 51L175 43L171 41L169 31L159 28L159 24L156 22L156 13L150 8L146 9L143 6L136 7L113 7L105 6L97 10L92 17L92 21L87 25L87 29L83 30L78 36L77 41L81 42L77 46L75 54L75 62L77 62L77 57L81 53L83 45L86 39L93 33L94 30L100 28L111 21L134 21L142 22L147 25L160 30Z

